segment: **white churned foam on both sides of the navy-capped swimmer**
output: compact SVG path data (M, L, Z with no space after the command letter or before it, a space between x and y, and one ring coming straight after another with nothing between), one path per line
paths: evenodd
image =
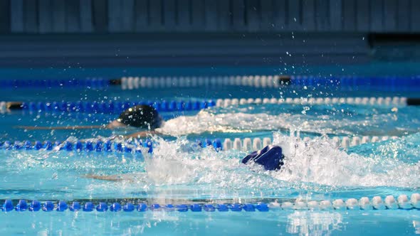
M372 158L335 149L330 139L304 143L295 137L275 134L273 144L283 147L285 166L281 171L264 171L258 165L243 165L246 154L216 152L212 147L186 151L185 139L159 140L152 156L145 157L146 181L155 186L187 184L230 189L279 189L288 186L420 186L419 163Z

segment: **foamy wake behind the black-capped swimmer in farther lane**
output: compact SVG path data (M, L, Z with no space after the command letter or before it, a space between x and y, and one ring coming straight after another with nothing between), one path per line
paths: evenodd
M348 104L313 106L305 114L300 105L272 104L202 110L194 116L169 119L158 129L175 136L204 132L255 132L258 130L300 129L303 132L346 135L406 135L419 132L415 108L352 107ZM384 127L384 122L387 126Z

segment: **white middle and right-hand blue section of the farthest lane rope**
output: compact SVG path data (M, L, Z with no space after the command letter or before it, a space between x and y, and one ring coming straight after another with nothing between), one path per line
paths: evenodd
M419 76L314 76L314 75L230 75L230 76L172 76L172 77L121 77L114 81L122 90L164 87L332 87L350 90L360 87L394 91L420 90Z

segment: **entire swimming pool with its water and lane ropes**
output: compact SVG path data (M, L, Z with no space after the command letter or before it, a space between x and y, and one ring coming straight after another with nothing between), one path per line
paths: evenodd
M416 195L420 192L420 109L406 106L405 100L400 99L416 97L420 86L417 80L396 87L397 79L381 83L382 79L372 79L368 87L359 78L349 78L352 83L343 85L336 80L320 83L317 78L293 77L292 85L271 86L273 77L241 76L238 84L229 85L224 84L225 77L210 77L206 86L199 85L203 78L193 86L191 77L177 76L169 79L170 85L177 81L176 87L166 86L164 78L156 86L144 80L131 90L122 85L73 86L75 82L50 84L47 87L51 88L46 88L27 81L29 86L22 82L12 90L1 90L1 100L22 101L27 105L25 109L1 114L0 199L10 199L13 206L21 204L23 208L20 199L26 200L28 207L33 200L56 205L52 211L47 207L46 211L38 212L4 210L1 214L4 227L0 232L3 235L420 234L416 201L420 200ZM266 86L262 80L268 82ZM353 83L356 80L360 83ZM379 84L374 84L377 81ZM114 108L111 111L107 107L106 112L102 108L83 108L80 112L76 103L74 107L71 104L78 101L83 106L86 102L90 106L94 102L112 102ZM147 145L139 145L138 141L127 144L113 139L109 151L104 151L105 146L97 151L98 140L105 145L107 137L130 130L16 128L106 124L117 116L115 107L125 102L157 102L162 108L163 101L167 104L161 114L167 122L160 131L173 136L151 137L152 158L147 154ZM169 109L171 101L175 105ZM177 106L181 101L184 103ZM184 109L188 101L192 101L191 109ZM192 109L196 101L198 108L209 108ZM57 109L45 107L53 102L57 102ZM86 146L75 151L77 139L90 139L92 151ZM197 139L201 146L206 146L206 139L211 142L217 139L223 150L215 151L213 143L200 147ZM26 150L26 140L31 143L30 150ZM46 140L61 144L53 150L34 149L35 141ZM284 147L287 159L282 171L267 172L240 163L249 151L266 144L264 140ZM5 141L10 141L10 146L6 147ZM66 141L74 145L71 151L65 150ZM145 139L142 141L145 143ZM121 151L115 146L118 143L122 144ZM90 174L117 174L123 180L86 178ZM77 201L82 208L60 212L59 200L68 207ZM85 205L88 202L100 207L85 211L90 208ZM100 203L106 203L106 212L100 212L105 208ZM135 210L114 212L112 209L117 205L112 203L120 203L126 210L127 203L132 203ZM61 207L59 210L64 209Z

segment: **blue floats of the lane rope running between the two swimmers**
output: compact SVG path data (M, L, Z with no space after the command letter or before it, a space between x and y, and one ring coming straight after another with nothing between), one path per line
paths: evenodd
M197 140L196 144L191 144L205 148L213 147L216 151L223 150L221 139ZM130 141L3 141L0 142L0 149L21 150L21 151L86 151L86 152L125 152L141 153L143 148L147 148L148 153L153 152L154 142L150 139L132 139Z

